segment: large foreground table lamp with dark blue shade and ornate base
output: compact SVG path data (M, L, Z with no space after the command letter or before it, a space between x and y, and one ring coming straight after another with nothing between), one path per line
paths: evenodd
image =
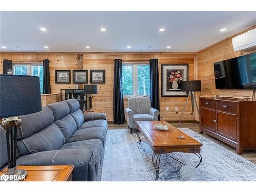
M9 181L19 181L27 171L16 166L17 129L22 120L17 117L42 110L39 77L0 75L0 117L6 132ZM22 177L23 176L23 177Z

